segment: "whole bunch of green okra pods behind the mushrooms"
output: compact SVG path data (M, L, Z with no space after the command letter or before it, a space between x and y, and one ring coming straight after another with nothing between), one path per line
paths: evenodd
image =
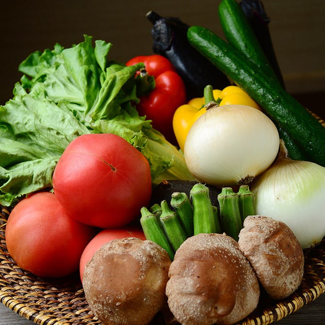
M187 238L198 233L226 232L238 240L243 227L241 215L244 220L247 215L255 214L254 194L247 185L241 185L238 193L234 193L231 187L224 187L216 198L219 211L217 206L212 205L209 193L208 186L195 183L190 190L192 202L186 193L174 192L170 198L174 210L166 199L161 201L161 205L153 204L151 212L143 207L140 222L146 239L162 243L160 245L169 251L172 247L174 253Z

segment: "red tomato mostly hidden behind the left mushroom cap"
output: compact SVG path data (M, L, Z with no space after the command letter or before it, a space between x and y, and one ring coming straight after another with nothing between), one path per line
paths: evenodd
M146 236L142 229L139 227L124 227L116 229L104 229L98 232L98 234L89 242L89 244L84 249L81 259L80 259L80 278L82 282L82 275L84 267L89 260L93 257L94 253L103 244L106 244L114 239L127 238L127 237L137 237L142 240L146 240Z

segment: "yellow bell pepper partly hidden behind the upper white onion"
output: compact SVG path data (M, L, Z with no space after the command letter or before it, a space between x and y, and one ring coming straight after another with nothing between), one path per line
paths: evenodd
M217 98L215 102L219 106L229 104L247 105L261 110L260 106L238 86L227 86L223 90L213 89L213 97ZM173 129L179 148L182 151L184 150L185 140L192 125L199 116L206 113L204 105L210 101L209 99L211 99L209 96L193 98L187 104L179 106L174 113Z

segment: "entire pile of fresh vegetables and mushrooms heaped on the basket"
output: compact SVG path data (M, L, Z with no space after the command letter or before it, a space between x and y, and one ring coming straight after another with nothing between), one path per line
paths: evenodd
M261 2L218 9L227 41L151 11L153 55L36 51L0 106L8 251L79 270L104 324L234 324L260 286L291 295L325 236L325 128L286 92Z

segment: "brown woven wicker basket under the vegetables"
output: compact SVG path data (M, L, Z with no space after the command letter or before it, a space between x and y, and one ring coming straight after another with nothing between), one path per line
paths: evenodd
M325 122L320 120L325 126ZM79 274L60 279L38 278L19 268L10 257L4 239L9 211L0 212L0 302L40 325L102 324L89 309ZM290 297L274 301L261 294L258 308L240 325L274 323L325 292L325 238L317 247L305 250L305 274L301 286ZM152 324L164 324L157 315Z

